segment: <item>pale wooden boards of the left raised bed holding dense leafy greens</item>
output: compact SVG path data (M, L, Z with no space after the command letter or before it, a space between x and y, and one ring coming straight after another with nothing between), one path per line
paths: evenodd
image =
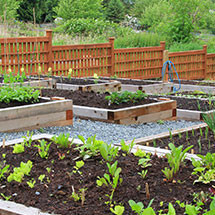
M0 109L0 132L64 126L73 123L72 100Z

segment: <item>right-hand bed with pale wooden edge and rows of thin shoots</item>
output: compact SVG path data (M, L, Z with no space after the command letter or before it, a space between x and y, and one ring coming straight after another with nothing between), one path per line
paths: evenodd
M193 146L190 151L192 154L215 153L215 134L214 131L209 129L206 123L200 125L190 126L185 129L164 132L158 135L138 138L134 142L136 145L144 146L144 150L150 151L154 147L162 150L169 149L169 143L173 143L176 147L183 146L183 148ZM130 143L131 141L127 141ZM117 144L119 145L119 144ZM188 155L190 157L190 155ZM192 157L192 156L191 156Z

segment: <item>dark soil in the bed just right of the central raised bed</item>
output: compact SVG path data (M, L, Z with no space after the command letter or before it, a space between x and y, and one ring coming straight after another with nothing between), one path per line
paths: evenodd
M183 97L177 97L177 96L151 96L151 97L167 97L172 100L175 100L177 102L177 108L178 109L185 109L185 110L196 110L196 111L208 111L212 110L215 107L215 101L211 101L211 104L209 100L200 100L197 98L183 98ZM200 105L200 108L199 108Z

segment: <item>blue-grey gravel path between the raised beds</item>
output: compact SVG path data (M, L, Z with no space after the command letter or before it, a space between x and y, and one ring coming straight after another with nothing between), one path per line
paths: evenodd
M120 142L121 139L132 140L134 138L141 138L166 132L168 131L168 129L176 130L202 123L199 121L184 120L162 122L163 124L155 122L126 126L74 118L73 126L41 128L34 130L33 132L34 134L48 133L56 135L60 133L70 133L70 136L75 138L77 137L77 135L81 135L84 138L96 135L96 139L98 140L103 140L107 143L117 143ZM2 141L3 138L5 138L6 140L20 138L25 134L26 132L0 132L0 141Z

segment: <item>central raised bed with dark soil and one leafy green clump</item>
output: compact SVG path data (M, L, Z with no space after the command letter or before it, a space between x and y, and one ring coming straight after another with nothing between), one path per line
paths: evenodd
M117 124L138 124L171 119L176 113L175 101L151 99L142 91L137 91L136 94L126 91L115 92L110 96L107 93L43 89L42 94L48 97L72 99L75 116Z

